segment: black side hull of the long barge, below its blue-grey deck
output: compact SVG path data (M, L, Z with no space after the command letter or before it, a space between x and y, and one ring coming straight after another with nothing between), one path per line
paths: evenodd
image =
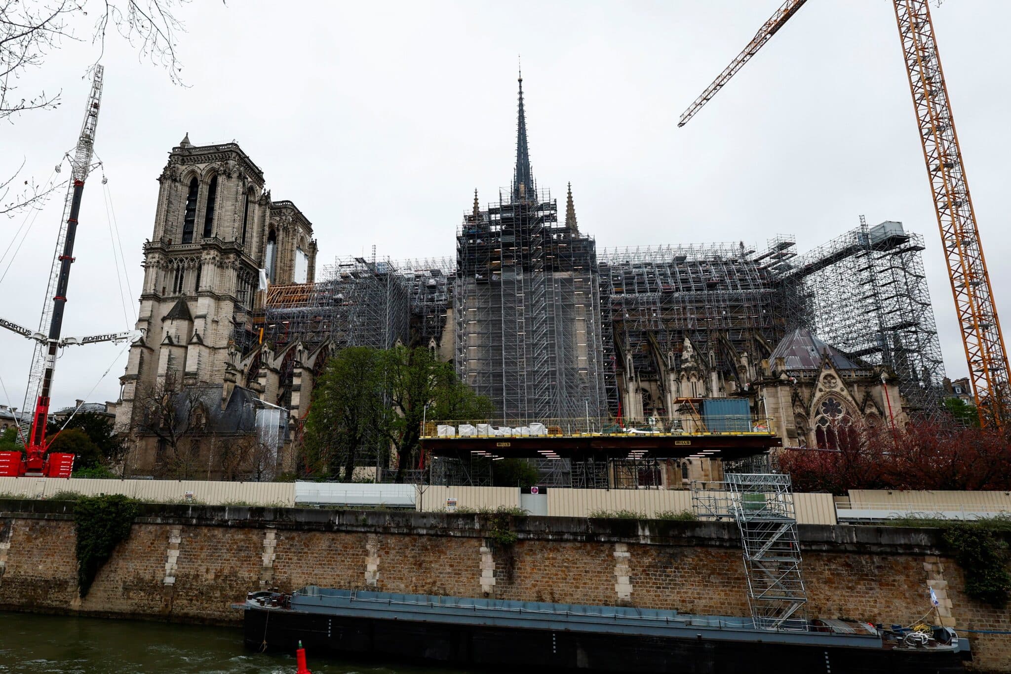
M908 649L799 646L464 623L376 619L288 609L246 608L245 642L254 650L446 663L481 669L720 674L744 671L950 674L964 672L957 653Z

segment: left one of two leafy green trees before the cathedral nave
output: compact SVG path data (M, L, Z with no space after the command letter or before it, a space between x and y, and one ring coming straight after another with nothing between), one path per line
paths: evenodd
M352 481L361 451L374 446L386 425L381 362L380 352L368 347L343 349L328 361L305 420L310 470Z

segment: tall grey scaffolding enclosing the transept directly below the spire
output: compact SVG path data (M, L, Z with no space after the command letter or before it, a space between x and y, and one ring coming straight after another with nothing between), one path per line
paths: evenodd
M499 192L457 231L456 366L505 418L606 408L593 239L549 192Z

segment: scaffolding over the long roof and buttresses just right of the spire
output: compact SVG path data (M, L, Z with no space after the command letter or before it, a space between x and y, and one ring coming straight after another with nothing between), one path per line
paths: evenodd
M754 253L744 244L708 244L599 254L606 386L613 415L619 412L620 390L642 382L656 386L655 395L643 400L642 415L672 414L679 397L672 390L674 374L681 369L685 342L725 381L739 379L742 355L754 363L771 353L786 334L776 307L790 289L778 285L769 269L779 258ZM774 255L782 256L783 249ZM693 395L727 394L713 390L718 386L712 382L706 386ZM624 397L629 395L626 391ZM626 416L631 415L629 407L626 400Z

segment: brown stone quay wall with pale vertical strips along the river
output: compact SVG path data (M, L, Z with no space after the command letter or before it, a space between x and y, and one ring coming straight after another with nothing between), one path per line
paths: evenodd
M500 541L503 527L516 534ZM800 525L808 614L910 624L940 599L972 668L1011 672L1011 609L967 597L929 528ZM0 609L237 623L246 592L325 587L747 615L726 522L141 506L78 597L73 503L0 499Z

